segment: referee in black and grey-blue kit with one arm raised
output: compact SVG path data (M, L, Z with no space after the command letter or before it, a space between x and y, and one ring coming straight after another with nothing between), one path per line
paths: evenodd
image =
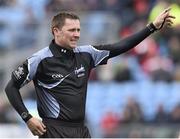
M115 44L77 46L80 19L61 12L52 19L54 39L48 47L28 57L12 72L5 92L33 135L41 138L90 138L84 125L87 82L90 71L109 58L134 48L154 31L171 26L174 18L164 10L141 31ZM20 88L33 81L42 121L25 107Z

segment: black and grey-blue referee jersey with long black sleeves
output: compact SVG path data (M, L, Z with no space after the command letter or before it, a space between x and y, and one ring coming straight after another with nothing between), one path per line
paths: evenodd
M145 27L115 44L84 45L73 50L58 46L53 40L50 46L27 58L13 71L12 79L6 87L8 99L20 115L28 111L19 89L33 80L38 112L42 119L84 122L87 82L91 69L132 49L151 33Z

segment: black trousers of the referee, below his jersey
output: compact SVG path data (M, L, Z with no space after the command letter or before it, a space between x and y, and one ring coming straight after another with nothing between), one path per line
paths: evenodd
M43 119L46 133L39 138L91 138L83 123L69 123L54 119Z

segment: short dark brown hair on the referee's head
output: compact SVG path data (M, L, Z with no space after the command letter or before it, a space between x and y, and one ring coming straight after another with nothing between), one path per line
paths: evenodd
M53 35L54 35L53 28L55 27L62 28L64 26L65 19L80 20L80 18L74 13L70 13L70 12L58 13L57 15L53 17L51 21L51 31Z

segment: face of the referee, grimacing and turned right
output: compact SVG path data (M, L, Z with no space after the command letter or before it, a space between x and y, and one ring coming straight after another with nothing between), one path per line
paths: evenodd
M57 44L65 48L73 49L77 46L80 38L80 21L74 19L66 19L61 29L54 29L55 41Z

